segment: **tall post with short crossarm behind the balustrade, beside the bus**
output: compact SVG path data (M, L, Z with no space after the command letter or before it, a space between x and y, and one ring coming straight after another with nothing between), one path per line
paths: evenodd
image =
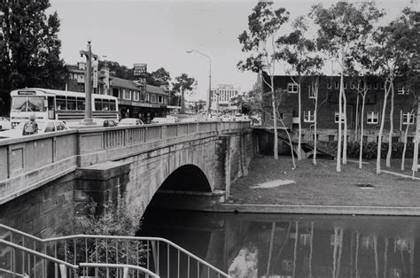
M96 123L92 120L92 58L97 60L97 55L92 54L92 46L90 45L90 41L88 42L88 50L84 51L81 50L81 57L86 57L86 71L85 71L85 105L84 105L84 119L82 120L82 124L86 126L93 126Z

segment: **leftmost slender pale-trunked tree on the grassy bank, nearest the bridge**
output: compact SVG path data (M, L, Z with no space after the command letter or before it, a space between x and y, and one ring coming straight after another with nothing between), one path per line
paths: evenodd
M289 12L284 8L275 10L272 2L259 2L248 16L248 31L238 36L242 44L242 51L250 53L245 61L239 61L237 67L242 71L252 71L261 74L261 80L271 91L271 107L274 128L274 158L278 158L277 118L276 118L276 89L274 88L274 74L276 70L276 33L289 20ZM269 81L263 70L268 71ZM264 93L264 92L262 92Z

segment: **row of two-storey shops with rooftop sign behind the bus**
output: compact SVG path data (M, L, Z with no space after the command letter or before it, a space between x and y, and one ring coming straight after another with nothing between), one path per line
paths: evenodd
M85 69L86 64L82 62L77 66L68 66L67 90L84 92ZM169 112L167 86L146 85L144 88L137 81L111 76L106 68L100 69L97 74L97 88L94 93L117 97L121 118L139 118L149 123L154 117L165 116Z

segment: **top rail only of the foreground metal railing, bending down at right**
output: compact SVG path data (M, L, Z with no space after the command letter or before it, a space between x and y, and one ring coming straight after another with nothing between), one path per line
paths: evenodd
M5 226L4 224L0 224L0 228L4 228L11 232L17 233L20 236L27 236L39 243L52 243L58 241L65 241L65 240L75 240L75 239L108 239L108 240L133 240L133 241L155 241L155 242L162 242L167 243L168 245L174 247L178 251L182 251L185 255L191 257L192 259L196 259L200 264L214 270L214 272L221 274L223 277L230 277L229 274L222 272L222 270L218 269L217 267L207 263L204 259L200 259L196 255L192 254L190 251L183 249L183 247L173 243L166 238L163 237L153 237L153 236L98 236L98 235L72 235L72 236L58 236L58 237L51 237L51 238L39 238L36 236L31 236L25 232L19 231L17 229ZM2 240L4 241L4 240ZM0 242L1 243L1 242ZM14 243L13 243L14 244ZM20 246L20 245L18 245Z

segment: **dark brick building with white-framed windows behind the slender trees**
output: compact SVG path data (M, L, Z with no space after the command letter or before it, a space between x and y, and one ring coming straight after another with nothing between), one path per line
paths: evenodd
M262 73L266 80L269 79L267 73ZM294 78L296 80L296 77ZM307 76L303 79L301 85L301 127L302 140L310 141L314 139L314 108L315 95L312 86L315 77ZM385 80L380 76L369 76L368 92L365 99L365 108L363 115L364 141L377 142L377 135L380 127L382 115L382 106L384 103ZM358 138L356 129L360 130L360 119L362 111L362 97L357 93L357 84L360 84L362 77L345 77L344 88L346 89L346 116L348 136L350 140ZM339 76L320 76L318 89L318 112L317 112L317 138L321 141L338 140L338 94L339 94ZM261 94L270 89L264 83L260 83ZM284 100L279 105L278 111L280 118L284 121L286 128L291 130L292 139L298 139L299 108L298 108L298 85L293 83L288 75L278 75L274 78L275 89L283 89ZM393 109L393 142L403 141L404 133L408 123L411 124L408 131L408 142L412 142L416 135L416 125L414 114L411 110L415 97L408 86L401 79L394 81L395 97ZM263 95L263 94L262 94ZM358 97L359 95L359 97ZM390 94L391 96L391 94ZM262 96L263 97L263 96ZM266 125L272 125L271 104L263 107L262 121ZM390 97L387 101L385 114L385 127L383 142L388 141L390 129L389 112L391 108ZM416 110L415 110L416 111ZM343 117L344 118L344 117Z

